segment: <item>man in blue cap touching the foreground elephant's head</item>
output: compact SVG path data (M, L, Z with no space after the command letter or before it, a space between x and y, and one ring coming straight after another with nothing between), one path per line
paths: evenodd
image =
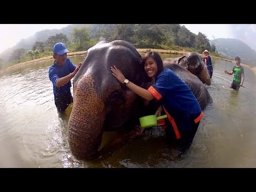
M73 97L70 92L71 82L79 68L80 62L75 66L67 58L68 49L64 43L56 43L53 46L53 65L49 68L49 78L53 84L54 102L58 111L65 111L70 103L73 103Z

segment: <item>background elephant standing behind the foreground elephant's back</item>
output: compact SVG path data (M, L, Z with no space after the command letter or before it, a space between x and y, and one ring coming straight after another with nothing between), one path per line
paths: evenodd
M163 60L163 63L166 62L180 65L197 76L206 85L211 85L211 78L207 71L206 65L201 56L196 52L189 52L179 58L166 58ZM164 64L164 67L168 66Z

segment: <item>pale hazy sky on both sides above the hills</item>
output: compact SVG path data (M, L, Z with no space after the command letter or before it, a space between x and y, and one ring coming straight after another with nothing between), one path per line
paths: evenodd
M69 24L0 24L0 53L21 39L44 29L61 29ZM181 24L194 34L200 31L208 39L236 38L256 51L256 24Z

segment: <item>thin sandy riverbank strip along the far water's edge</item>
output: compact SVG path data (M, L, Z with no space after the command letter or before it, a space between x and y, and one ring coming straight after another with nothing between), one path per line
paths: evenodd
M140 54L143 54L143 53L146 53L148 51L155 51L157 53L161 53L161 54L177 54L177 57L180 57L181 55L184 55L188 52L186 51L174 51L174 50L160 50L160 49L137 49L137 51L140 53ZM79 51L79 52L73 52L73 53L68 53L68 57L76 57L76 56L82 56L82 55L85 55L86 51ZM202 55L202 54L201 54ZM211 55L212 58L216 58L216 59L221 59L221 60L225 60L225 61L229 61L229 62L234 62L233 60L230 60L230 59L225 59L225 58L219 58L219 57L214 57ZM47 57L43 57L43 58L39 58L39 59L34 59L34 60L30 60L30 61L26 61L26 62L22 62L22 63L17 63L13 66L10 66L10 67L7 67L7 68L4 68L4 69L1 69L0 72L1 73L4 73L4 71L6 70L10 70L10 69L16 69L16 68L19 68L19 67L23 67L23 66L28 66L32 63L37 63L37 62L43 62L43 61L48 61L48 60L53 60L53 57L52 55L51 56L47 56ZM241 63L242 65L245 65L243 63ZM251 68L254 73L256 74L256 67L252 67L252 66L249 66L249 65L245 65L249 68Z

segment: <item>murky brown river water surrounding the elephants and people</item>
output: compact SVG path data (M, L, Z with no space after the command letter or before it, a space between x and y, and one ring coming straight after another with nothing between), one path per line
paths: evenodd
M177 55L162 54L162 59ZM71 57L73 63L83 56ZM102 154L78 161L67 139L71 107L59 116L48 77L53 60L0 73L0 167L256 167L256 78L243 66L244 86L229 88L234 62L213 60L212 83L207 87L213 103L188 152L178 156L163 132L148 129L145 137ZM73 81L71 81L73 83ZM73 87L71 87L73 94ZM104 133L103 142L113 133Z

